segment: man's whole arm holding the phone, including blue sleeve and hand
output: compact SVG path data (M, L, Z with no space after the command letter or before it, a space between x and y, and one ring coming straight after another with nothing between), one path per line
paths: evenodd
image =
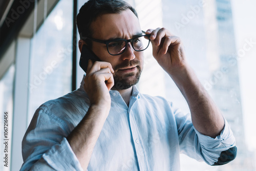
M87 75L84 85L91 103L89 109L88 106L88 110L76 108L72 104L69 106L67 101L61 105L54 103L52 106L51 102L41 105L23 139L24 164L20 170L87 170L94 145L109 114L109 89L113 81L112 74L108 73L111 69L105 68L111 67L110 63L95 62L93 66L92 62L89 63L92 73ZM103 80L103 90L99 88L101 81L97 85L96 81L90 82L94 79ZM108 79L106 84L105 79ZM72 115L66 115L67 118L62 119L52 113L51 108L65 113L65 110L62 111L62 105L74 113L87 111L86 115L81 121L75 120L76 123L69 124L67 121L73 119L69 118ZM80 123L77 125L78 122Z

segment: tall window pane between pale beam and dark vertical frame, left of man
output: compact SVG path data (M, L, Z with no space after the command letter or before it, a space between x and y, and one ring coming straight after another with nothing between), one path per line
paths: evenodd
M73 2L61 0L32 38L28 123L40 104L71 91Z

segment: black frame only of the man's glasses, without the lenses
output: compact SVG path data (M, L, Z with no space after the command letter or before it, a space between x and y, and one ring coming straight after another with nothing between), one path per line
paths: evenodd
M142 31L142 32L145 33L144 31ZM113 55L113 56L116 56L116 55L121 55L122 53L125 52L125 50L126 50L126 48L127 48L127 44L128 44L129 42L131 42L131 45L132 45L132 47L133 47L133 49L134 49L135 51L137 51L137 52L144 51L146 48L143 49L143 50L136 50L136 49L134 48L134 46L133 46L133 41L134 41L134 39L136 39L136 38L138 38L138 37L142 37L142 36L146 36L146 37L148 38L148 44L147 44L147 46L146 46L146 48L147 48L148 45L150 45L150 36L151 36L151 34L139 35L139 36L136 36L136 37L134 37L134 38L127 39L127 40L126 40L126 39L99 40L99 39L90 38L90 37L84 37L83 40L89 39L89 40L92 40L92 41L99 42L99 43L101 43L101 44L105 44L105 45L106 45L106 49L108 50L109 54L111 54L110 51L109 51L109 43L112 42L112 41L123 40L123 41L125 42L125 49L124 49L121 53L119 53L119 54L111 54L111 55Z

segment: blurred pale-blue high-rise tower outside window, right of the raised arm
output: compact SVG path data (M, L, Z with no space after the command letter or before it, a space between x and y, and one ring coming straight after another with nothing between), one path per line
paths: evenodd
M255 170L255 159L249 154L245 142L238 71L241 54L236 48L231 2L210 0L207 3L209 5L204 9L207 49L215 51L213 54L207 53L207 58L215 62L210 63L211 78L205 86L227 119L238 147L237 158L219 170Z

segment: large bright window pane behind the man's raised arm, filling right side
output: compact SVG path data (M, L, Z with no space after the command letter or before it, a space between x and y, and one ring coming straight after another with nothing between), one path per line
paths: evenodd
M256 79L248 74L256 72L255 55L252 55L256 52L253 6L228 0L135 0L135 8L141 17L142 30L164 26L181 37L190 66L228 120L237 140L238 154L234 161L213 167L181 155L181 170L256 170L253 124L256 118L251 107L256 102ZM146 94L164 96L188 113L186 101L175 83L148 51L144 55L139 89Z

